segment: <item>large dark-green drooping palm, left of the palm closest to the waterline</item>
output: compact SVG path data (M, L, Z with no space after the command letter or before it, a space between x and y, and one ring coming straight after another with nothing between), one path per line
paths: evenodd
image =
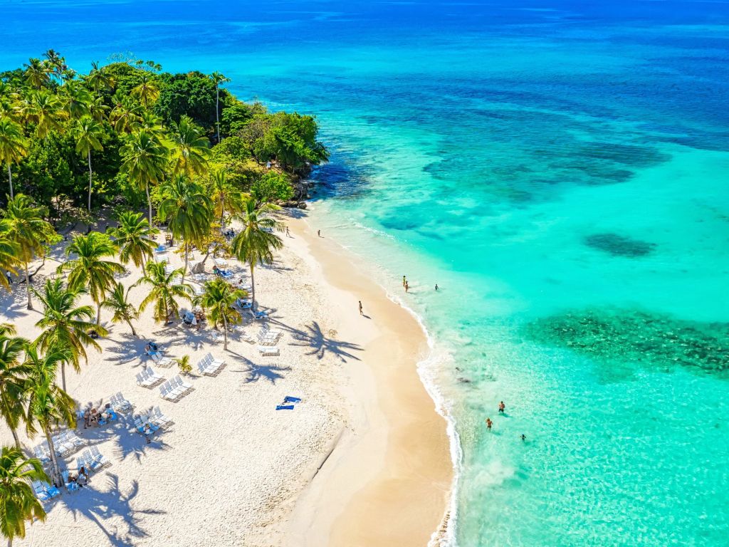
M162 187L162 195L160 219L168 222L168 229L174 237L183 238L186 243L182 270L184 281L190 244L199 243L210 231L213 202L201 185L181 174Z

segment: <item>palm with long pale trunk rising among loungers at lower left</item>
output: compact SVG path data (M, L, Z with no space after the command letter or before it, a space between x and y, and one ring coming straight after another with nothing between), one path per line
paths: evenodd
M52 479L56 486L61 486L61 468L53 446L52 430L61 424L76 427L74 408L76 403L71 395L55 384L58 365L70 359L69 350L52 348L41 354L34 344L26 349L26 363L30 367L30 376L26 386L28 396L28 413L26 427L28 435L36 432L37 423L48 441L48 451L52 465Z

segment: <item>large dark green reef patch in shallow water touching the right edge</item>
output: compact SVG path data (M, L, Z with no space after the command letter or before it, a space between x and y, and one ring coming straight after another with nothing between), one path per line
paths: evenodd
M532 341L601 361L671 370L676 366L729 379L729 323L695 322L630 309L586 309L542 317L523 327Z

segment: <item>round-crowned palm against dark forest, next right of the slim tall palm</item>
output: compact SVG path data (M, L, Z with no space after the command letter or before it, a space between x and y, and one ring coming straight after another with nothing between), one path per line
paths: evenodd
M159 136L147 129L140 129L122 146L122 171L147 193L149 225L152 226L152 199L149 187L158 184L165 174L168 150Z

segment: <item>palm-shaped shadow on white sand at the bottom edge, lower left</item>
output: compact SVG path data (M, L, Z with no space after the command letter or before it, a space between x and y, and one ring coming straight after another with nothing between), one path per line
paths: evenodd
M106 478L106 481L104 481ZM106 486L104 492L96 489L97 484L103 482ZM165 511L159 509L135 509L133 500L139 494L139 482L132 481L128 492L122 492L119 477L113 473L106 473L105 477L94 476L88 486L79 489L74 494L61 498L66 508L74 513L74 520L79 516L85 517L101 529L109 543L116 547L131 547L139 543L140 538L147 538L147 532L141 527L141 515L162 515ZM121 516L126 530L117 527L114 523L107 528L105 521L114 516Z

